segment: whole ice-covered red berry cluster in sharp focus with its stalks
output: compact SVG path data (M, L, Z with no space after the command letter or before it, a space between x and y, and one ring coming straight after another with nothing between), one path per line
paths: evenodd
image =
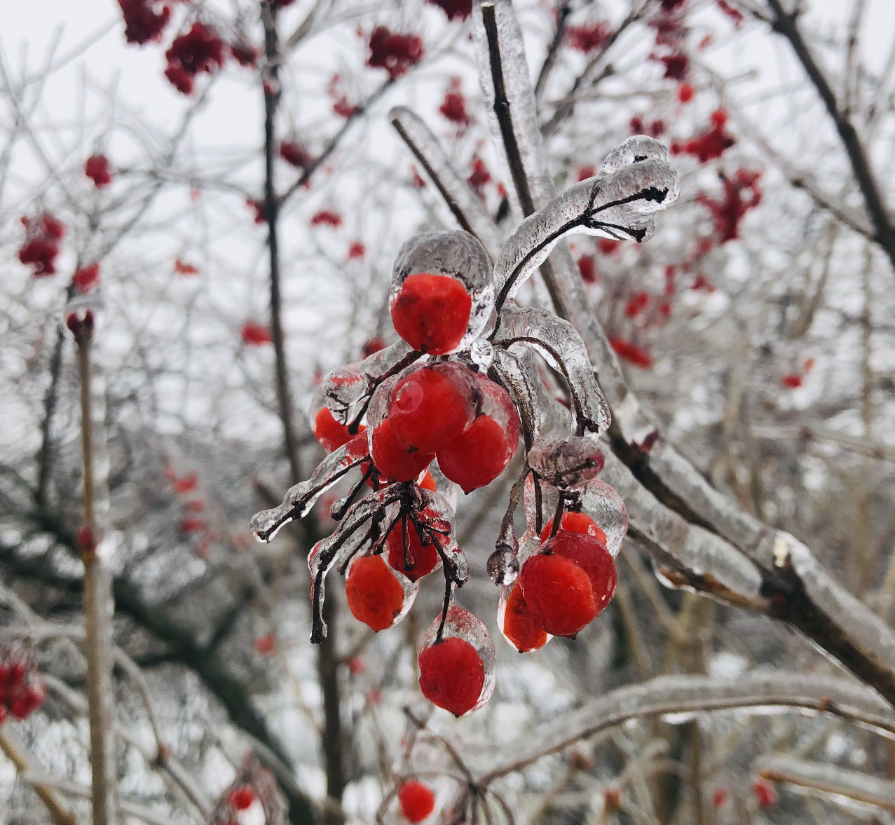
M443 608L418 653L422 693L456 716L487 702L494 645L482 621L454 604L469 576L455 535L457 490L497 479L520 440L519 473L487 560L501 588L501 633L518 651L534 651L551 636L574 637L607 607L627 528L621 498L598 477L609 407L575 327L512 299L560 238L643 241L655 228L651 213L677 194L667 150L635 136L599 174L525 220L493 263L464 231L405 242L389 300L401 340L324 378L311 426L327 457L281 506L252 520L256 537L270 540L360 471L332 505L336 530L309 555L311 642L326 638L331 569L345 576L354 617L376 631L405 617L422 579L441 570ZM567 407L536 355L562 377ZM520 502L525 528L517 536Z

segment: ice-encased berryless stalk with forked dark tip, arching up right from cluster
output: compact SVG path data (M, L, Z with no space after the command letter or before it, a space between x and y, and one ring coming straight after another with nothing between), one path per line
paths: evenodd
M562 238L591 234L644 241L655 231L650 214L672 204L679 192L678 173L660 157L575 183L510 236L494 266L498 306L516 295Z

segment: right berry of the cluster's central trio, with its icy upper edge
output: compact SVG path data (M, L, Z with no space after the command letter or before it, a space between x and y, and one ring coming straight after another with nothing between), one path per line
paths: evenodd
M478 382L481 414L436 453L441 472L465 493L494 481L519 446L519 416L507 390L482 376Z

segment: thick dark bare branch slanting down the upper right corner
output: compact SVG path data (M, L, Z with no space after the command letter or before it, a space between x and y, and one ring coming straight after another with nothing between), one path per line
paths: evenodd
M848 155L848 162L851 164L858 188L864 198L867 213L874 225L874 241L888 256L892 268L895 268L895 229L892 227L889 209L882 199L882 191L880 191L864 143L858 136L854 124L848 118L848 113L840 109L830 82L814 60L814 55L805 43L805 39L802 38L802 32L798 28L797 15L785 12L780 0L768 0L768 5L774 15L771 20L771 29L789 41L789 45L805 69L808 79L823 101L823 106L825 106L827 114L830 115L836 132L839 133L842 146Z

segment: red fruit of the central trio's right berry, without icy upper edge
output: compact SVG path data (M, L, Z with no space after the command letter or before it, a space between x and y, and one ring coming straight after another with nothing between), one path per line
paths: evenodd
M438 451L439 467L465 493L494 481L510 463L519 443L519 424L506 432L490 415L480 415L459 438Z

